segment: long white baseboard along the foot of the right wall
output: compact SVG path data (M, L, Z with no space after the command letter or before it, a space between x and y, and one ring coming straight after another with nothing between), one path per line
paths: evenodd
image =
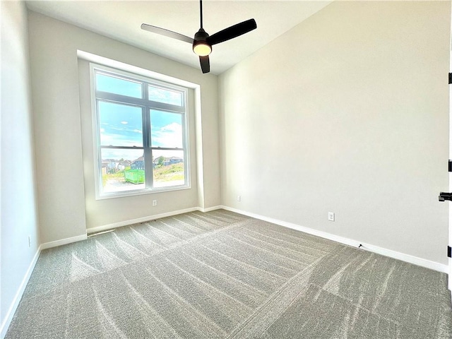
M319 231L319 230L314 230L314 229L309 228L309 227L304 227L304 226L292 224L291 222L285 222L285 221L278 220L278 219L268 218L268 217L265 217L263 215L249 213L249 212L246 212L245 210L238 210L237 208L230 208L228 206L220 206L220 208L223 208L225 210L230 210L231 212L247 215L247 216L249 216L251 218L255 218L255 219L259 219L259 220L263 220L263 221L268 221L268 222L271 222L271 223L276 224L276 225L292 228L293 230L298 230L298 231L302 231L302 232L305 232L305 233L308 233L308 234L316 235L317 237L322 237L322 238L325 238L325 239L333 240L333 242L340 242L341 244L345 244L345 245L348 245L348 246L352 246L352 247L358 248L359 245L362 245L360 247L361 249L364 249L364 250L367 250L367 251L371 251L371 252L374 252L376 254L381 254L383 256L388 256L390 258L395 258L395 259L398 259L398 260L401 260L401 261L405 261L407 263L413 263L413 264L415 264L417 266L430 268L431 270L437 270L437 271L442 272L442 273L449 273L449 268L448 268L447 265L444 265L442 263L436 263L435 261L429 261L429 260L424 259L424 258L419 258L417 256L411 256L410 254L400 253L398 251L393 251L391 249L384 249L382 247L374 246L372 244L366 244L364 242L358 242L357 240L352 240L352 239L349 239L349 238L340 237L340 236L335 235L335 234L322 232L322 231Z

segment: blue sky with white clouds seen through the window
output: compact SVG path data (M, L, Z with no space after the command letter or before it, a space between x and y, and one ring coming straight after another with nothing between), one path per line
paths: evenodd
M141 83L126 81L124 79L96 75L97 90L109 93L141 97ZM182 105L182 93L164 88L149 86L149 96L158 102ZM113 146L137 146L143 147L143 123L142 107L123 105L114 102L99 100L98 102L100 144ZM150 110L151 120L151 145L152 147L182 148L182 114ZM182 152L156 151L154 157L163 155L165 157L182 157ZM158 155L157 155L158 153ZM143 155L143 150L102 150L102 159L123 158L124 160L135 160Z

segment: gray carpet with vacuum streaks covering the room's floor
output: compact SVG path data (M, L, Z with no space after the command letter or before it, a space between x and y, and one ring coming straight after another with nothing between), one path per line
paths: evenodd
M42 251L12 338L452 338L447 275L243 215Z

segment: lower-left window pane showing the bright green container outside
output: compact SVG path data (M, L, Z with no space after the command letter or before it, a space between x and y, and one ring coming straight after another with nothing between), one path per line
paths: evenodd
M114 193L145 188L143 150L101 150L102 191Z

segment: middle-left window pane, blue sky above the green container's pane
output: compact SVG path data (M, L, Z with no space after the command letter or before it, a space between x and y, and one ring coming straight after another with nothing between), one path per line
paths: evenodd
M142 109L99 101L100 145L143 147Z

